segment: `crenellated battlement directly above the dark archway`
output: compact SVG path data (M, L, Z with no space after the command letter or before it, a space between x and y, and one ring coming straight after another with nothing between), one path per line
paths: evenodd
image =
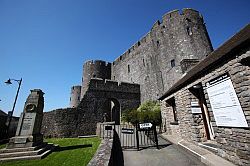
M140 92L140 85L108 79L92 78L88 84L88 90L138 93Z

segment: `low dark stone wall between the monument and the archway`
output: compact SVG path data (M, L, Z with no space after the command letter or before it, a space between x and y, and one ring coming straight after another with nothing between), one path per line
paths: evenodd
M93 135L97 117L76 108L57 109L45 112L41 133L45 137L77 137Z

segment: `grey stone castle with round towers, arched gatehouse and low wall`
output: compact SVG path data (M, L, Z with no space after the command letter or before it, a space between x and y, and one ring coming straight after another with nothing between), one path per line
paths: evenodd
M70 108L45 112L42 132L74 137L95 134L98 122L119 124L123 111L158 99L212 51L198 11L168 12L114 62L85 62L82 86L71 88Z

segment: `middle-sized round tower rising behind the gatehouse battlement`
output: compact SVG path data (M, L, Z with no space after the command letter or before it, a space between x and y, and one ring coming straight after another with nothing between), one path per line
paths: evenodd
M88 86L91 78L111 79L111 63L106 63L102 60L87 61L84 63L81 98L85 94L85 88Z

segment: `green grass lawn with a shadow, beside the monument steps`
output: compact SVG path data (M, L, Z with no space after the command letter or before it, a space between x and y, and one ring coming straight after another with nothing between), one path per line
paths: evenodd
M1 163L1 166L77 166L87 165L94 156L101 140L94 138L51 138L47 142L60 147L42 160Z

